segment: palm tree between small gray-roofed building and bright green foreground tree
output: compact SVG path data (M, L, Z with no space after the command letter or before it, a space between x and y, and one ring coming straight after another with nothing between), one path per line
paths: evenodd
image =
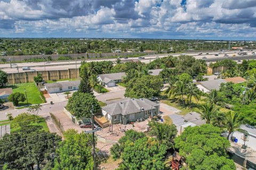
M198 108L201 118L203 118L208 124L211 123L212 118L217 114L219 109L217 106L211 103L200 105Z

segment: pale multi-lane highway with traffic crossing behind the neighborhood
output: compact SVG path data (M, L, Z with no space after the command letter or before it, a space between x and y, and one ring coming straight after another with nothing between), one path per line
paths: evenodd
M248 55L243 55L239 56L237 53L238 52L225 52L225 53L218 53L218 52L204 52L202 55L198 55L198 53L186 53L186 55L194 56L196 59L202 59L205 60L206 62L215 62L218 60L224 60L225 58L229 58L231 60L255 60L256 55L252 55L252 52L244 51L247 52ZM209 54L206 54L209 53ZM214 54L218 54L218 56L215 56ZM228 56L224 56L227 54ZM179 56L181 55L180 53L176 54L156 54L156 55L145 55L144 59L139 59L138 57L133 57L133 58L120 58L121 62L130 62L130 61L141 61L145 63L149 63L156 58L161 58L165 57L168 55L172 56ZM235 55L235 56L234 56ZM203 58L206 57L206 58ZM102 58L99 60L85 60L86 62L92 62L92 61L116 61L116 58ZM14 64L14 63L12 63ZM17 65L12 65L12 68L10 67L10 64L0 64L0 69L7 72L7 73L17 73L18 72L18 67L19 67L19 72L25 72L25 70L22 70L22 67L30 67L31 69L34 69L36 71L44 71L44 70L67 70L67 69L78 69L79 66L81 66L81 60L79 61L54 61L50 63L46 62L36 62L36 63L15 63ZM26 70L26 72L30 72L30 70Z

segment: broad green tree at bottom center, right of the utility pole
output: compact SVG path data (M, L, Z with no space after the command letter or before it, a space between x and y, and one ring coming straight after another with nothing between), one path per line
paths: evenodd
M163 169L167 146L159 143L155 138L148 138L140 132L129 130L125 135L132 137L129 133L139 138L122 137L111 149L111 154L119 154L123 160L122 169ZM120 149L119 145L123 148Z

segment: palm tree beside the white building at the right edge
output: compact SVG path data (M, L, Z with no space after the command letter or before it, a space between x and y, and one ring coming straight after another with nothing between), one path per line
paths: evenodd
M228 112L225 117L224 127L228 132L227 139L229 140L230 134L235 131L248 134L246 130L241 129L242 122L239 121L239 114L237 112Z

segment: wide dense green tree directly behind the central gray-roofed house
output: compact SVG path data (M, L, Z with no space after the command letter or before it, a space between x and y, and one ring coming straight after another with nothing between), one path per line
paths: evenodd
M140 78L133 78L126 85L125 97L149 98L157 96L163 88L163 79L154 75L143 75Z

